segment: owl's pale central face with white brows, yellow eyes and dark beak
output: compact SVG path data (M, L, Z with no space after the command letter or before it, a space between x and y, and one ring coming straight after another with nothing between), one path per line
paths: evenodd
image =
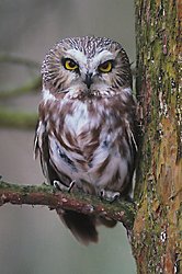
M115 55L103 50L92 58L77 49L69 49L62 58L62 66L80 92L88 95L99 94L102 89L111 87L112 71L115 66ZM72 88L71 88L72 90Z

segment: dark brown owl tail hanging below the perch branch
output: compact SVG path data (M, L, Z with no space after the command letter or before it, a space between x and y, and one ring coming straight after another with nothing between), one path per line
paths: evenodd
M115 226L116 221L96 218L72 210L57 209L64 224L71 230L78 241L88 246L90 242L98 242L96 225L103 224L107 227Z

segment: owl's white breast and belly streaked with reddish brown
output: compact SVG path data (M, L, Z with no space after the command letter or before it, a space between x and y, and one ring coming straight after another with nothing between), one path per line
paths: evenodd
M118 100L115 100L117 104ZM46 105L49 155L56 169L79 184L88 182L95 189L106 186L120 191L126 180L130 155L126 158L121 153L125 122L117 107L111 107L107 99L102 99L102 103L101 100L69 103L62 100L50 104L47 101L44 107ZM61 117L60 124L54 115L55 107Z

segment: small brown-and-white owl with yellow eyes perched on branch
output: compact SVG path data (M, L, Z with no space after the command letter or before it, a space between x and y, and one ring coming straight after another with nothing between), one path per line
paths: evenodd
M35 134L47 181L114 201L128 197L136 161L136 103L122 45L103 37L65 38L42 66L43 99ZM96 225L116 222L57 209L82 243L98 241Z

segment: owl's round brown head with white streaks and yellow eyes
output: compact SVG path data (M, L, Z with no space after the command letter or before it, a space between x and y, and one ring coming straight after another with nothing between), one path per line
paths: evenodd
M65 38L46 55L43 85L54 96L110 98L132 85L128 57L122 45L94 36Z

